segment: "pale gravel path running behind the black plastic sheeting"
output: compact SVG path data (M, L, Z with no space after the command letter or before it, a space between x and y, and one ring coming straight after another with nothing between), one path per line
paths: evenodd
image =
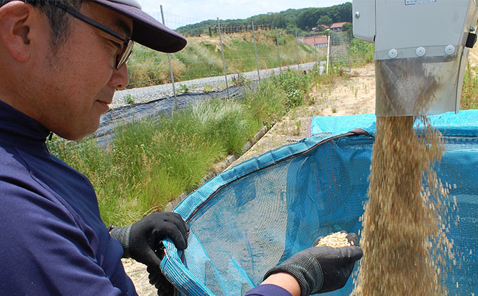
M321 62L321 64L324 62ZM299 65L300 70L308 71L311 70L316 63L304 63ZM288 66L291 69L297 69L297 65ZM287 69L288 67L282 67L282 70ZM323 66L321 66L323 67ZM325 68L325 67L324 67ZM266 78L273 74L279 73L280 69L278 67L272 69L260 70L260 77ZM250 80L257 80L257 70L251 72L242 73L244 77ZM227 75L228 86L233 84L233 77L238 77L237 74ZM212 91L222 91L226 89L226 82L224 81L224 75L216 77L206 77L200 79L193 79L183 82L174 83L176 88L176 94L179 94L179 89L181 84L188 86L191 92L203 92L205 86L209 86ZM128 105L127 97L131 96L134 99L134 103L145 103L148 101L155 100L157 98L164 98L169 96L174 96L172 84L161 84L155 86L146 86L140 87L137 89L124 89L122 91L116 91L115 96L113 97L113 103L111 104L112 108L120 107L122 105Z

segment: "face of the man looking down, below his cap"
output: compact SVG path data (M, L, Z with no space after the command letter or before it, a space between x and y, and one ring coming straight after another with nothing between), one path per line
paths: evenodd
M132 31L131 19L98 4L86 2L79 12L122 36ZM126 65L115 69L120 41L72 18L67 40L54 55L45 43L46 58L35 71L39 91L31 98L37 101L34 118L65 139L81 139L98 129L115 89L129 82Z

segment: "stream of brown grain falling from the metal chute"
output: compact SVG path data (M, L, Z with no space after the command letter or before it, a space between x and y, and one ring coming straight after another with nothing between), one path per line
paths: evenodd
M420 120L425 134L417 136L413 117L377 117L354 294L446 295L441 276L453 255L439 225L448 189L432 169L444 145L439 131Z

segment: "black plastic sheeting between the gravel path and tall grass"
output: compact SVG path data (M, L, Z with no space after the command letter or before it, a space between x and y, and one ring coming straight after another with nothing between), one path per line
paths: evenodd
M246 88L255 89L257 81L251 82L247 86L229 87L230 98L241 98L245 94ZM176 95L177 109L186 108L193 103L198 103L210 98L227 98L227 90L211 91L209 93L187 93ZM155 117L164 112L172 112L176 103L174 96L158 98L147 103L136 103L110 109L106 112L100 121L100 126L93 137L99 146L108 146L112 142L115 128L129 122L141 120L144 117Z

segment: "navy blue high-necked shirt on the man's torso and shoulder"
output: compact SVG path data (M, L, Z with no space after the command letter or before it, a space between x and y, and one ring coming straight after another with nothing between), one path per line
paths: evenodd
M0 295L136 295L93 186L0 101Z

